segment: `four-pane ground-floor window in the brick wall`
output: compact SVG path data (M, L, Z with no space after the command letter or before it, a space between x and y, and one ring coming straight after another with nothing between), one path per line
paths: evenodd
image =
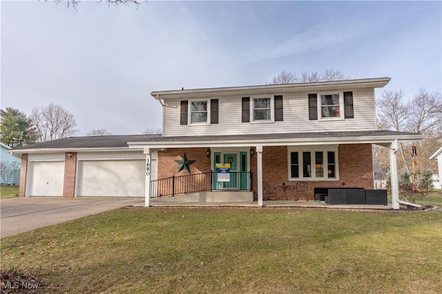
M338 147L289 147L289 180L338 180Z

